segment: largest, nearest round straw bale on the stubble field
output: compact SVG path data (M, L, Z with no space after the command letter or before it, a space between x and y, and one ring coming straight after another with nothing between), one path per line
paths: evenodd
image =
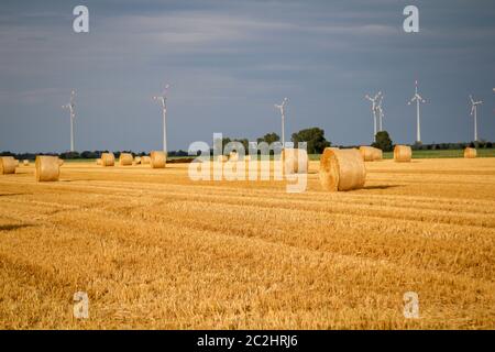
M366 169L360 151L326 148L320 157L320 183L330 191L364 187Z

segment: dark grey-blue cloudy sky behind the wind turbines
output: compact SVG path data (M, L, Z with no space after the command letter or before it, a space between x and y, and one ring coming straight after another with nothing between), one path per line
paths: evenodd
M89 8L90 32L73 31ZM420 32L403 10L419 8ZM324 129L334 144L370 143L365 94L382 90L384 128L413 143L419 80L422 140L473 139L469 94L484 100L480 138L495 140L495 2L110 0L0 2L0 151L63 152L77 91L76 148L162 146L165 82L168 148L213 132L255 140Z

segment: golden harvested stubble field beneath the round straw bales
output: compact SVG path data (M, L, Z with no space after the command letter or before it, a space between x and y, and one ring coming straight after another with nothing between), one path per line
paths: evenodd
M304 194L188 165L0 176L0 328L495 328L495 158L366 163L349 193L310 162Z

